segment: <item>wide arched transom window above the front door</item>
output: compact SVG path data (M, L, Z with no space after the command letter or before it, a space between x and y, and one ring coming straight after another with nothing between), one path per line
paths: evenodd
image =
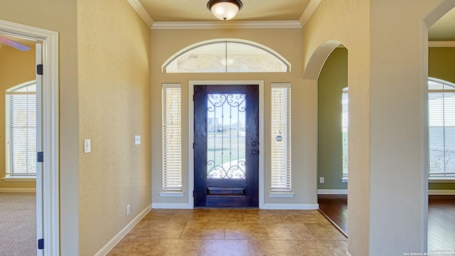
M291 72L291 63L276 51L252 41L203 41L183 48L166 60L164 73Z

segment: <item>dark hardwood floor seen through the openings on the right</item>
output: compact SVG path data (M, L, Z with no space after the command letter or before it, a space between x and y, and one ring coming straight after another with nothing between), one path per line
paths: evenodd
M319 208L337 228L348 234L346 195L319 195ZM455 196L429 196L428 250L455 249Z

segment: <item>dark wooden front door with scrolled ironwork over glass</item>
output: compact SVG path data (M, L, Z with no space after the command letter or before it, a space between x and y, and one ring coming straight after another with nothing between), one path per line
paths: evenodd
M194 87L194 206L259 206L259 86Z

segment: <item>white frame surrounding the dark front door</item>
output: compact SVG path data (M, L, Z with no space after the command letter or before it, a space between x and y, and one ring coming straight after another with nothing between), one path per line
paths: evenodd
M259 87L259 209L264 208L264 81L263 80L190 80L188 81L188 208L194 208L194 86L257 85Z

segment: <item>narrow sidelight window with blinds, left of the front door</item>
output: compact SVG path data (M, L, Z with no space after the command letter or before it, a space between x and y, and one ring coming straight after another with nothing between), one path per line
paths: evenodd
M181 85L162 85L163 191L182 190Z

